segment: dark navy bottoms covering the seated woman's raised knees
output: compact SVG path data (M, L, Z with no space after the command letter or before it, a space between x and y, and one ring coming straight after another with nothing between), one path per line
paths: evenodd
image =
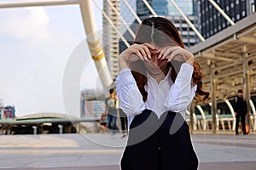
M196 170L188 124L183 116L166 112L160 119L145 110L131 122L121 160L122 170Z

